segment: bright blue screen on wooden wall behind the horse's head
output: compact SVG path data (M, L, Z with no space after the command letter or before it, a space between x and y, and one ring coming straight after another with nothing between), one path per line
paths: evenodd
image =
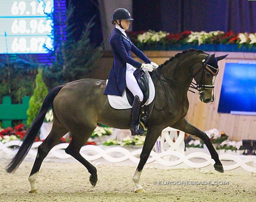
M256 112L256 64L226 63L218 112Z

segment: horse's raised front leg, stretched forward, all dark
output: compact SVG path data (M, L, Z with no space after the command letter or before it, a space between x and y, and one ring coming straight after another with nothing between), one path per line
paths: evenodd
M224 173L223 165L219 160L219 154L214 149L210 138L206 135L205 132L197 129L195 126L189 123L185 118L180 119L170 127L174 129L182 130L183 132L196 136L200 138L202 141L204 141L206 147L208 148L211 154L211 158L215 161L215 164L213 165L214 169L220 173Z

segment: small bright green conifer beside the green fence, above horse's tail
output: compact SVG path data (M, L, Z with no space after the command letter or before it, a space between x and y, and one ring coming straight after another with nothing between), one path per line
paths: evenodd
M27 125L29 126L32 124L33 120L37 116L43 104L43 101L45 99L45 96L48 93L46 84L43 81L42 72L43 72L42 69L38 69L38 73L35 79L35 89L29 101L29 107L27 110L27 114L28 114Z

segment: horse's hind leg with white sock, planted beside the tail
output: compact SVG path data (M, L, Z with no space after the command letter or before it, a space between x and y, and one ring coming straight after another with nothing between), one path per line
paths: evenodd
M37 156L35 158L35 162L28 178L30 182L30 193L38 193L37 186L35 184L37 174L41 167L41 164L49 151L59 143L59 140L63 135L68 132L66 128L64 128L58 120L54 119L52 130L50 134L47 136L45 141L41 145L39 145L37 150Z

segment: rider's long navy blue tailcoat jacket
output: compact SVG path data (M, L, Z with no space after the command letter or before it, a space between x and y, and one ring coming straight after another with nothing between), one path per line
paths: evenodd
M139 50L122 32L115 28L110 37L110 46L114 55L114 62L108 77L108 84L105 95L122 96L126 87L126 63L135 68L141 68L141 62L132 59L132 52L145 63L150 63L150 59Z

